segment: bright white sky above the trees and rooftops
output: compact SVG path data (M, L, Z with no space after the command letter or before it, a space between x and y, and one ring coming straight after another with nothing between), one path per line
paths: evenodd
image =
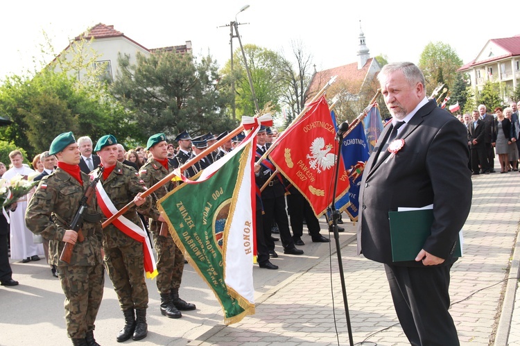
M237 15L246 5L250 7ZM466 64L488 40L520 34L520 25L504 19L512 10L514 22L519 23L516 8L510 0L492 5L467 0L4 1L0 80L51 61L41 53L44 33L57 54L69 40L98 23L113 25L148 49L191 41L195 55L209 53L223 66L230 55L229 26L219 26L236 19L243 23L239 26L243 44L290 58L291 42L302 42L321 71L357 62L361 21L371 57L386 55L389 62L417 63L429 42L444 42ZM239 48L236 38L233 48Z

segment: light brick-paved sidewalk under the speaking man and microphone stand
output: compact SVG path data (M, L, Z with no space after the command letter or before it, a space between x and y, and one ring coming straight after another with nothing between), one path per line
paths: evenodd
M519 309L513 306L520 250L512 260L520 220L520 174L478 175L473 182L473 205L463 229L464 256L451 270L451 315L461 345L520 345L518 298ZM347 232L354 233L355 227L347 226ZM354 343L408 345L383 266L356 256L355 236L341 253ZM255 315L213 327L189 345L349 345L343 306L338 261L325 257L264 294Z

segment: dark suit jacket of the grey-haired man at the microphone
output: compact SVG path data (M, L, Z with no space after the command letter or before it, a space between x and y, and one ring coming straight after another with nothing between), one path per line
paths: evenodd
M381 263L423 266L415 261L392 263L388 211L433 204L431 236L423 249L453 263L448 259L471 207L467 129L429 101L399 133L404 147L385 162L390 153L379 152L391 130L386 126L381 133L363 173L358 253Z

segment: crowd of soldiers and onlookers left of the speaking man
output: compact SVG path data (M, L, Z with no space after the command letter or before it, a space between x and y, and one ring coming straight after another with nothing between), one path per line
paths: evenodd
M194 138L183 131L175 137L175 143L168 143L166 136L159 133L148 139L146 147L138 146L126 152L113 135L99 138L94 146L87 136L76 141L72 132L65 132L53 140L49 150L34 157L33 168L24 164L20 150L13 150L9 154L9 168L0 163L0 177L10 179L21 175L24 179L41 182L26 198L11 206L8 211L10 224L1 216L1 285L19 284L12 279L8 243L10 258L21 263L39 261L40 256L45 256L51 275L60 279L65 295L67 334L73 345L98 345L94 338L94 322L103 297L105 270L125 320L123 329L116 334L118 342L130 338L141 340L148 333L145 277L156 276L162 315L181 318L181 311L195 310L196 305L182 300L179 292L187 261L157 209L157 200L178 182L168 182L146 198L141 198L141 194L224 137L229 137L229 131L218 136L209 132ZM199 157L183 171L184 175L193 178L227 155L244 138L245 134L241 132L223 142L205 157ZM272 166L261 157L276 138L277 132L272 128L259 130L255 164L257 184L259 187L266 185L261 196L257 196L257 263L259 268L270 270L278 269L270 261L278 257L275 242L280 241L272 236L273 232L279 233L284 254L304 253L295 247L304 245L304 222L313 242L329 242L320 234L320 224L309 202L297 196L295 189L286 205L286 182L283 177L273 175ZM90 184L94 183L96 192L89 197L89 193L92 194ZM83 208L80 231L76 232L70 223L82 209L80 202L87 197L90 202ZM103 220L129 202L135 207L121 216L130 220L129 223L102 227ZM288 215L293 234L289 230ZM72 248L67 260L62 257L64 248ZM155 268L149 268L149 263L147 266L147 257L157 259Z

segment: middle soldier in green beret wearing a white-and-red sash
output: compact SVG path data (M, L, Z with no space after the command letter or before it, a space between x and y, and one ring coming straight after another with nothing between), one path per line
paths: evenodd
M146 323L148 289L144 281L145 254L148 260L155 261L155 259L153 259L148 235L141 227L141 219L137 215L137 211L142 213L150 209L152 199L140 197L146 191L144 182L134 168L121 164L117 160L118 150L119 144L116 137L112 135L101 137L94 148L103 165L101 186L98 183L97 193L105 218L110 218L114 210L123 208L128 202L133 201L137 206L120 216L118 220L121 222L110 223L103 230L105 265L117 293L119 306L125 316L125 326L116 336L117 342L121 343L130 338L141 340L148 334ZM99 174L98 170L99 168L94 171L94 174ZM147 270L148 277L157 275L157 272L154 273L155 268L146 269L149 270Z

